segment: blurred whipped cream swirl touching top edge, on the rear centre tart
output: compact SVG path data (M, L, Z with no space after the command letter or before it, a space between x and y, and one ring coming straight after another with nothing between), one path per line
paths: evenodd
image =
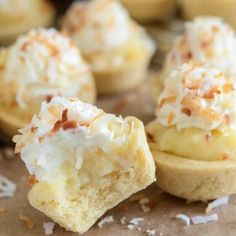
M129 14L117 0L74 3L63 19L62 28L83 53L119 48L132 33Z

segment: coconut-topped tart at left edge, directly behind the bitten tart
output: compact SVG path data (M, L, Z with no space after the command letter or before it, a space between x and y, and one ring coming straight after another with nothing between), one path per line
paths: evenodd
M37 29L0 51L0 129L12 137L53 96L94 103L96 90L77 46L54 29Z

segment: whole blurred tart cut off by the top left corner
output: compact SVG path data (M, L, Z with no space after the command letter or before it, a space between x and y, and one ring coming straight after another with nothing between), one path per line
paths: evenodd
M55 9L47 0L1 0L0 45L8 45L20 34L53 23Z

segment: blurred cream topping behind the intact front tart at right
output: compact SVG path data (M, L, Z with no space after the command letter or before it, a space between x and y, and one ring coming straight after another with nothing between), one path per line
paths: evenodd
M236 74L236 35L217 17L197 17L185 24L167 55L164 71L168 74L190 60L206 63L227 75Z

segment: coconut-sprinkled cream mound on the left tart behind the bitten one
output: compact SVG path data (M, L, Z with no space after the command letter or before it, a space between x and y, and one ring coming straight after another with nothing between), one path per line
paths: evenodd
M22 109L32 99L41 103L47 96L80 97L83 86L93 81L78 48L54 29L32 30L1 53L7 55L3 85L15 88L9 89L10 96Z

